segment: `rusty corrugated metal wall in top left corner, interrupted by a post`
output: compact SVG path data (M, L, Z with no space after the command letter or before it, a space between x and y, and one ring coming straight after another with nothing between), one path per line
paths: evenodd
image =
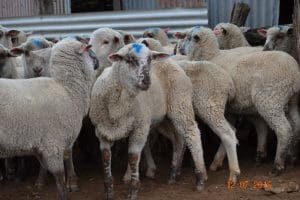
M54 14L69 14L70 0L52 0ZM39 15L37 0L0 0L0 17L26 17Z

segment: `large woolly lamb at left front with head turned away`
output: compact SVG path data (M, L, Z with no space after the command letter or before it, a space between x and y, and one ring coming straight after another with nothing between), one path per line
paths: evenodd
M93 83L90 47L78 41L57 43L50 58L51 78L0 80L0 157L37 156L54 175L59 199L67 199L64 160L70 165L70 159L65 152L72 148L89 109ZM67 171L66 182L72 181L69 177Z

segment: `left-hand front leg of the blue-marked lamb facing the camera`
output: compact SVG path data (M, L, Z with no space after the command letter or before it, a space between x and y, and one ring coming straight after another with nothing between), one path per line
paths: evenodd
M100 150L102 155L103 171L104 171L104 190L105 199L113 199L113 177L111 174L111 143L100 138Z

